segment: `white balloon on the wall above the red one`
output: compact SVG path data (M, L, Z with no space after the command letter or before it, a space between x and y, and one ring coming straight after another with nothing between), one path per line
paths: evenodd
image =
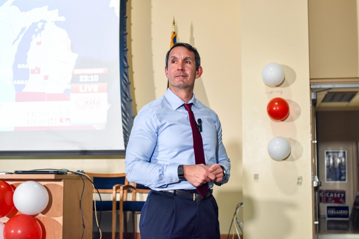
M262 79L269 86L278 86L284 80L284 70L280 64L268 63L262 69Z

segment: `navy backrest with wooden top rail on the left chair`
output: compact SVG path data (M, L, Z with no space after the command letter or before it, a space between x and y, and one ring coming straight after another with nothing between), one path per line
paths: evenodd
M101 193L112 193L113 186L128 184L126 173L86 173L93 177L93 183Z

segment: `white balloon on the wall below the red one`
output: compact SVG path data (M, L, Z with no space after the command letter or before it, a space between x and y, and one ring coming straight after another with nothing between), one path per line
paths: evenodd
M283 137L272 138L267 146L269 156L275 160L283 160L290 154L290 143Z

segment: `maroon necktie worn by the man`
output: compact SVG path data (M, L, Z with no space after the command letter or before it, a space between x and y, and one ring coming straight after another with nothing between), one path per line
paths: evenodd
M184 104L185 109L188 111L188 116L190 116L190 123L192 128L192 135L193 135L193 149L195 150L195 162L196 164L203 163L206 165L205 159L204 159L204 151L203 151L203 142L202 142L202 136L199 130L197 129L197 123L195 120L195 116L193 115L193 112L191 110L191 104ZM208 191L208 183L204 183L201 186L197 187L197 191L200 193L200 195L204 198L204 195Z

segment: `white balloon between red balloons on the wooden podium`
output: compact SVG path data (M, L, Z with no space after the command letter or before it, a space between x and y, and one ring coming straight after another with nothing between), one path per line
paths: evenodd
M26 215L35 215L46 208L48 193L41 183L26 181L15 189L13 201L19 212Z

